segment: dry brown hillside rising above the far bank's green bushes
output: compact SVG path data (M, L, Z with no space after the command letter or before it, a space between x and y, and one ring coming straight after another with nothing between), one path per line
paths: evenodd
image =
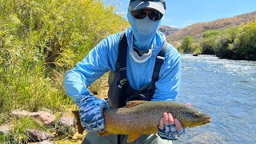
M256 21L256 11L248 14L238 15L233 18L222 18L212 22L196 23L178 30L169 36L166 35L166 38L169 42L181 42L186 35L190 35L192 38L194 38L195 42L197 42L206 30L225 30L231 26L243 26L247 22L254 21Z

